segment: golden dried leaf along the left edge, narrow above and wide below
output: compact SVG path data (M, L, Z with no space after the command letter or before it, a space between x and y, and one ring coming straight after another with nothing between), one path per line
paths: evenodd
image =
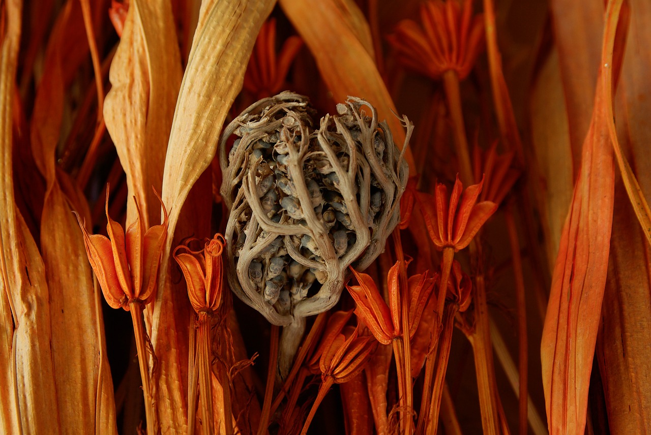
M12 98L22 2L7 1L0 41L0 427L5 433L61 433L50 347L43 261L16 209L12 171Z

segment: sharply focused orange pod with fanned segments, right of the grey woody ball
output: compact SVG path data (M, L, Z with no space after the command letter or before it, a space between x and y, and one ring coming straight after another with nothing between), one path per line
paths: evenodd
M465 248L495 213L497 204L494 202L477 203L483 183L482 179L480 183L467 187L462 196L463 185L457 175L449 199L447 187L442 183L437 184L434 198L430 194L418 193L427 230L437 249L454 248L454 252L458 252Z

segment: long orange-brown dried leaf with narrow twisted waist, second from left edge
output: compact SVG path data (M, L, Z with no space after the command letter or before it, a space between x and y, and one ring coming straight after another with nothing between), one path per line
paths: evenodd
M76 191L68 175L55 163L66 84L88 51L85 39L71 40L79 29L83 31L80 12L76 2L68 2L49 40L47 73L36 91L31 144L48 189L40 243L48 282L57 400L76 403L59 406L59 425L64 433L109 434L117 433L117 428L102 306L90 266L83 257L83 239L71 213L77 210L88 216L88 205L83 193ZM75 53L72 58L67 57L71 53ZM61 261L61 252L68 254L66 261Z

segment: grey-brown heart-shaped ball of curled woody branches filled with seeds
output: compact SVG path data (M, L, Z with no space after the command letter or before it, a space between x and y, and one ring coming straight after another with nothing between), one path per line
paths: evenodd
M362 99L337 111L316 127L307 98L283 92L221 140L230 287L273 324L331 308L348 266L365 269L399 220L408 166L391 132Z

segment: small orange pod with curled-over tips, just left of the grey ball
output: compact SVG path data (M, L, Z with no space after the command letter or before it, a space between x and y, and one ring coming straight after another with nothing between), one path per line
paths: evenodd
M219 308L222 295L222 259L226 241L217 233L206 242L200 251L193 251L188 244L196 239L189 239L185 244L176 246L174 259L186 277L187 295L192 308L201 312L214 312ZM185 252L179 252L185 250Z

